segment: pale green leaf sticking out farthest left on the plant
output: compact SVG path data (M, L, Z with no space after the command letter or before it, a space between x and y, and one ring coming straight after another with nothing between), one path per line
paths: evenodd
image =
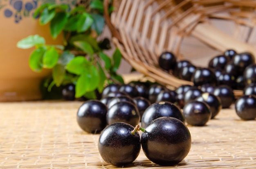
M45 44L45 38L39 35L31 35L31 36L28 36L27 38L20 40L17 43L17 47L21 49L28 49L38 44Z

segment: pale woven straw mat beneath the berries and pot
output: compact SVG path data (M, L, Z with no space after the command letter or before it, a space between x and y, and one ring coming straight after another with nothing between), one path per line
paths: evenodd
M0 103L0 168L115 168L98 153L99 134L76 123L82 102ZM256 120L242 121L234 107L204 127L191 127L191 151L175 167L151 163L143 151L130 168L256 168Z

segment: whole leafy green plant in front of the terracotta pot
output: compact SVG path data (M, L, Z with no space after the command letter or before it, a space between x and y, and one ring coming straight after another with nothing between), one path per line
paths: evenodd
M104 51L109 49L108 39L98 41L105 25L103 0L89 0L87 5L76 5L70 10L65 4L42 4L34 13L41 25L49 24L52 38L63 36L63 44L46 44L45 39L31 35L17 43L22 49L34 47L29 58L33 71L52 69L52 80L46 80L48 91L54 85L61 87L67 83L76 85L76 98L96 98L96 90L101 92L108 83L124 83L117 73L121 53L116 49L109 57ZM109 7L111 12L112 7Z

